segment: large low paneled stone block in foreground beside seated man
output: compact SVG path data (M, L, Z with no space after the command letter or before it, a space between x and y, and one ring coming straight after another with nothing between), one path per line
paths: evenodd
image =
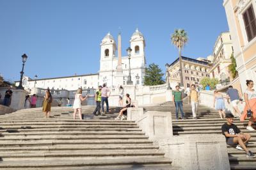
M227 144L221 134L173 136L155 144L180 169L230 169Z

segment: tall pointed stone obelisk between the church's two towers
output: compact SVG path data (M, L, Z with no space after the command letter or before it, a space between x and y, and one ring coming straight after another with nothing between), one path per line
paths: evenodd
M118 52L118 63L116 66L116 80L115 80L115 85L120 86L124 85L124 73L122 69L122 45L121 45L121 33L118 33L118 46L117 46L117 52Z

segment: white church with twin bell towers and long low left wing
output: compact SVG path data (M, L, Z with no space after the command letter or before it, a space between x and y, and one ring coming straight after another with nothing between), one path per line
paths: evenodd
M100 43L100 68L98 73L73 75L66 77L52 77L47 79L31 79L24 76L25 89L50 88L75 90L77 88L97 88L104 83L107 86L120 86L127 84L129 76L129 56L122 56L122 38L118 34L118 47L113 36L108 33ZM143 85L145 75L145 39L138 29L130 39L131 51L131 80L134 85ZM116 50L118 55L116 55ZM15 82L19 86L19 81Z

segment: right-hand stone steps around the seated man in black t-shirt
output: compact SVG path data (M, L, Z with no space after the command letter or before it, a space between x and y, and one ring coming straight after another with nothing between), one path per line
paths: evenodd
M186 134L221 134L221 125L226 120L221 120L218 111L204 105L198 107L198 120L192 119L191 106L184 104L184 113L186 120L173 120L173 135ZM172 118L175 118L175 106L172 102L165 103L161 106L145 107L145 111L171 111ZM179 113L180 116L180 113ZM256 153L256 130L246 130L248 121L241 123L238 118L234 123L242 132L248 132L252 135L248 148ZM255 127L255 124L254 124ZM227 146L228 156L231 169L256 169L256 158L246 158L244 151L236 150L231 146Z

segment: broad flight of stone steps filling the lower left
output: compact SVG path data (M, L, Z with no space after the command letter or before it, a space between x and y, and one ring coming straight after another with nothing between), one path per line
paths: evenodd
M71 107L22 109L0 116L0 169L175 169L134 121L116 121L120 108L92 120L72 120ZM78 118L78 116L77 116Z

